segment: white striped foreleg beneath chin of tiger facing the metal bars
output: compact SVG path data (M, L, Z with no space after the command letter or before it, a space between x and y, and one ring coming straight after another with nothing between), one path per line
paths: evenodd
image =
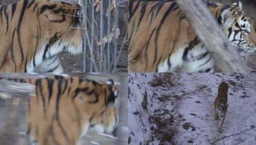
M35 73L63 73L63 68L61 66L59 57L53 55L42 62L38 67L35 68Z

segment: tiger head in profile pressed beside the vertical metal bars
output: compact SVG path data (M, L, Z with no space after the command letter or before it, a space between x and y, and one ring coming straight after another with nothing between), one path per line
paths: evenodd
M32 6L33 7L33 6ZM38 0L34 7L40 24L43 47L54 47L72 54L82 52L82 12L79 4Z

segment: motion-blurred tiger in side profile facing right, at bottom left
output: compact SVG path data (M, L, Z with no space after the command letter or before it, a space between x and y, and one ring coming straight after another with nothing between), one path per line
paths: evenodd
M2 78L1 78L2 79ZM79 77L10 79L35 86L26 108L31 145L81 145L89 128L113 132L119 118L119 89Z

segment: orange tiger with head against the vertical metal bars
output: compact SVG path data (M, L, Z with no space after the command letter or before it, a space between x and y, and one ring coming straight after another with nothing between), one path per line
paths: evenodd
M79 4L19 0L0 6L0 21L0 72L62 73L58 53L82 52Z

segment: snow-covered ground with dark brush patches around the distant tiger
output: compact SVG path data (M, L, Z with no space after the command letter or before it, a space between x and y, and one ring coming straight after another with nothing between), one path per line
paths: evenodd
M154 75L168 80L150 85ZM213 102L222 81L229 106L218 133ZM130 145L256 145L256 73L130 73L128 94Z

